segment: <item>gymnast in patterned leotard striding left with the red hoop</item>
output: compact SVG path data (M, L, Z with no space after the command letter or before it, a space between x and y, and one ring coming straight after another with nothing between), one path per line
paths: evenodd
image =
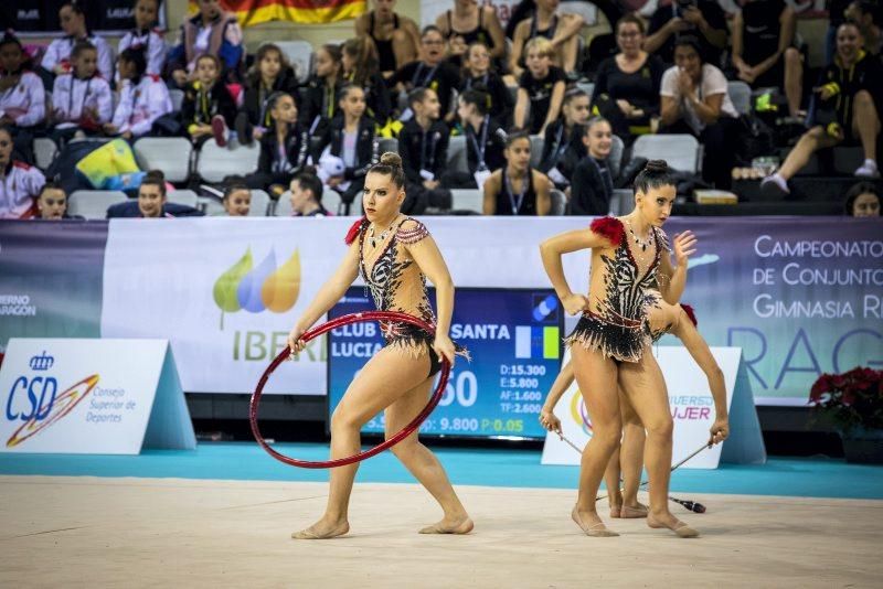
M291 354L301 352L305 332L347 292L361 272L377 309L398 311L435 325L435 335L405 322L381 322L386 345L350 384L331 416L331 458L355 454L360 430L385 409L385 433L393 436L423 408L442 367L454 363L455 346L448 336L454 311L454 283L435 240L418 221L401 213L405 174L397 153L384 153L365 176L362 204L365 216L347 234L347 256L322 286L288 334ZM426 278L436 287L438 318L426 293ZM393 447L393 453L440 504L444 517L421 534L468 534L472 521L433 452L417 440L417 432ZM331 490L322 517L291 534L296 539L326 539L349 532L348 508L358 463L331 469Z

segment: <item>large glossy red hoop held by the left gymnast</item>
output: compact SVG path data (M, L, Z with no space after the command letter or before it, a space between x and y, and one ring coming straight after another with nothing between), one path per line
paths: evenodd
M300 339L305 342L309 342L313 338L317 338L327 331L331 331L343 325L349 325L351 323L359 323L361 321L398 321L403 323L411 323L412 325L416 325L429 333L435 332L435 328L429 323L406 313L396 313L393 311L369 311L365 313L350 313L348 315L342 315L337 319L332 319L331 321L327 321L326 323L307 331ZM252 433L257 440L257 443L259 443L269 456L279 462L285 462L286 464L299 467L301 469L333 469L336 467L344 467L347 464L352 464L353 462L361 462L366 458L371 458L374 454L379 454L380 452L392 448L403 439L414 433L421 427L421 424L423 424L423 421L429 417L429 414L433 413L433 409L435 409L436 405L438 405L438 401L442 400L442 395L445 394L445 387L448 384L448 376L450 376L450 362L448 362L447 358L442 357L442 373L438 378L438 386L436 387L433 396L429 397L429 403L427 403L426 407L424 407L423 410L417 414L417 417L412 419L408 425L402 428L402 431L389 440L385 440L374 448L365 450L364 452L359 452L358 454L347 458L339 458L337 460L326 460L321 462L297 460L295 458L289 458L285 454L281 454L270 448L267 441L264 439L264 436L260 435L260 428L257 426L257 406L260 403L260 395L264 394L264 385L267 384L267 378L269 378L269 375L273 374L273 371L275 371L279 364L285 362L290 352L290 349L286 345L285 350L279 352L279 355L277 355L273 362L270 362L269 366L267 366L267 370L264 371L263 376L260 376L260 381L257 382L257 388L255 388L255 392L252 393L248 418L252 421Z

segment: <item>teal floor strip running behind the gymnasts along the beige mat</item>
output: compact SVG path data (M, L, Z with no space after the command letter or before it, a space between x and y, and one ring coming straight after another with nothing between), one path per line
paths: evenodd
M277 450L325 460L327 445L283 443ZM435 449L455 484L575 489L576 467L543 467L539 450ZM245 481L327 481L323 470L296 469L273 460L255 443L203 442L192 451L145 450L140 456L0 454L0 474L143 476ZM413 483L390 452L363 462L359 481ZM806 497L883 499L883 467L825 458L773 458L766 464L722 464L717 470L679 469L672 493L733 493Z

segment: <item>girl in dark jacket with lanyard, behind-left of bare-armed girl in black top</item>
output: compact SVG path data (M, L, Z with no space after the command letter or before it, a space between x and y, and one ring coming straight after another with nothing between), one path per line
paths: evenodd
M506 165L506 131L488 113L488 95L475 88L460 94L457 116L466 136L469 172L449 170L442 176L446 189L480 189L493 170Z

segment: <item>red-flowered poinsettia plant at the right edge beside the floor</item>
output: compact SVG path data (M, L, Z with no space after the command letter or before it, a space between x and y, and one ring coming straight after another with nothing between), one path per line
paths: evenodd
M883 429L883 371L857 366L843 374L822 374L809 392L813 411L841 431Z

